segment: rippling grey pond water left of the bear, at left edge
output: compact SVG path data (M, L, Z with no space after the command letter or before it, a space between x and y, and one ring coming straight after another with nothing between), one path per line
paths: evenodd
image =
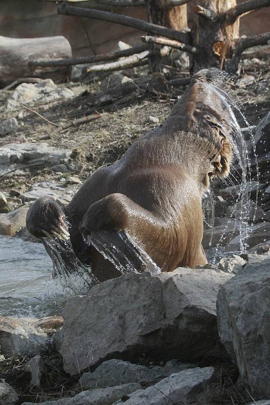
M52 268L42 244L0 235L0 315L52 314L55 306L43 298Z

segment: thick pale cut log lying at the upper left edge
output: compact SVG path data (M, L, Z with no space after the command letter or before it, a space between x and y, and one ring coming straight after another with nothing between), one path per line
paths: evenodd
M71 58L72 51L64 36L44 38L8 38L0 36L0 86L6 86L18 78L52 78L64 82L70 75L69 67L28 66L31 59L50 60Z

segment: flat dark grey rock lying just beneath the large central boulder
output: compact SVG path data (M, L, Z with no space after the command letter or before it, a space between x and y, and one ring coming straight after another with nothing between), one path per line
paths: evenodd
M84 373L79 381L83 389L113 387L131 382L152 385L159 380L185 369L195 367L191 363L168 361L164 367L148 368L123 360L104 361L93 373Z

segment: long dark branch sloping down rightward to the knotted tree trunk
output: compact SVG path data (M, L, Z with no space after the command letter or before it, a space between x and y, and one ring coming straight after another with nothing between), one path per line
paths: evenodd
M270 0L269 0L270 1ZM83 9L80 7L72 7L66 4L59 5L57 8L58 14L69 16L94 18L97 20L109 21L115 24L125 25L127 27L137 28L141 31L146 31L151 34L165 36L166 38L176 39L177 41L186 42L187 34L185 32L176 31L174 29L165 28L160 25L152 24L139 20L138 18L122 16L120 14L108 13L107 11Z

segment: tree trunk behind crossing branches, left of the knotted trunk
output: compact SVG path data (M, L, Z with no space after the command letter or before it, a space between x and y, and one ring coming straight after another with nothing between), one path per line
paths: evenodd
M183 31L188 27L187 4L182 6L171 6L170 0L150 0L150 19L153 24L172 28L176 31ZM162 59L159 54L150 58L151 70L160 70Z

